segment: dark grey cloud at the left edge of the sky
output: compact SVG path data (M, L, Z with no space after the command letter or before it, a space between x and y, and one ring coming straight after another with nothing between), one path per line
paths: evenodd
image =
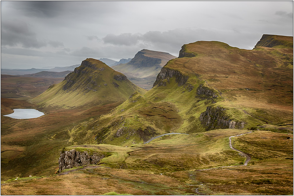
M31 31L29 25L24 21L1 21L1 46L16 46L18 44L24 48L46 46L46 42L37 40L36 33Z

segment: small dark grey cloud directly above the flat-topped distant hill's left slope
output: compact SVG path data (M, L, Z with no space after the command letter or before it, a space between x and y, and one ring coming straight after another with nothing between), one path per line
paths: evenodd
M108 34L102 40L104 43L112 43L114 45L131 46L138 42L140 34L122 33L120 35Z

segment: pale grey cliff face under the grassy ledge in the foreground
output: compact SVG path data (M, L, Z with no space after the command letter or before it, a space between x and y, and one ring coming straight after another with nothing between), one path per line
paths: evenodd
M82 165L97 165L101 159L105 158L106 155L100 153L89 154L87 151L79 152L74 149L70 151L64 151L60 153L59 157L59 170L70 169Z

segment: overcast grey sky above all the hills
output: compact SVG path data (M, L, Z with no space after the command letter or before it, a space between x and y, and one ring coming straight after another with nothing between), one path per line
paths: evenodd
M252 49L293 36L293 1L1 1L1 68L133 58L142 49L221 41Z

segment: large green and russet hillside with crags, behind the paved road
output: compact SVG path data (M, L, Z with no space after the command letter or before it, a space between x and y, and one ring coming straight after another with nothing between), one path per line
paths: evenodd
M293 49L198 41L180 52L191 53L195 57L170 60L147 93L133 93L109 114L85 122L86 129L77 126L73 140L131 145L163 133L220 128L293 133Z

